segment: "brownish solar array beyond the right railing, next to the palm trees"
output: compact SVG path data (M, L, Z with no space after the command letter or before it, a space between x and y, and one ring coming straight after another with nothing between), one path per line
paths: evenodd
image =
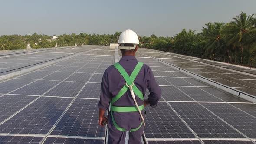
M213 81L222 83L224 85L236 88L240 91L256 96L256 77L251 75L256 75L255 70L240 68L237 66L230 66L190 56L156 51L152 49L140 49L139 51L141 54L147 56L154 56L158 59L163 60L164 62L168 62L172 65L186 69L190 72L194 72L197 75L201 75ZM248 74L246 75L244 73L238 73L237 71Z

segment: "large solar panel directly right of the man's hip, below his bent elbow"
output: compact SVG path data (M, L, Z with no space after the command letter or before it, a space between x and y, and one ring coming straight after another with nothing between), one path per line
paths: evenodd
M146 107L146 111L144 133L147 138L195 137L166 102L159 102L156 108Z

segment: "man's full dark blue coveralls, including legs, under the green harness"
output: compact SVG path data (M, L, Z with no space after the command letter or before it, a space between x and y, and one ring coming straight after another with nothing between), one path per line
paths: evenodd
M131 75L138 60L135 56L123 56L119 61L119 64L125 69L128 75ZM143 65L141 71L138 73L134 84L145 95L148 88L150 95L148 96L149 104L155 107L161 97L161 90L156 80L154 79L153 72L148 65ZM118 72L118 70L112 65L105 70L102 83L101 83L101 95L98 107L107 110L109 107L109 101L115 97L121 88L125 85L125 79ZM144 101L136 96L138 105L143 105ZM118 101L115 102L115 106L135 106L131 97L131 92L128 90ZM144 110L141 111L144 116ZM125 128L128 131L134 128L138 128L141 124L141 117L138 111L135 112L113 112L113 117L116 124ZM145 118L145 117L144 117ZM146 120L145 120L146 121ZM112 122L112 118L108 115L108 143L109 144L124 144L125 143L125 131L119 131L115 128ZM144 126L142 125L137 131L129 132L129 144L141 144L141 136L143 134Z

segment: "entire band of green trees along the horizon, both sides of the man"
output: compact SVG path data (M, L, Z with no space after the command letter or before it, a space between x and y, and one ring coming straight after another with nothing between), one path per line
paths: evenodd
M75 45L105 45L117 43L121 32L114 34L63 34L55 41L52 36L34 33L33 35L0 36L0 50ZM230 62L240 65L254 65L256 59L256 17L254 14L240 13L229 23L209 22L200 33L182 29L174 37L139 36L140 47L181 53L200 58Z

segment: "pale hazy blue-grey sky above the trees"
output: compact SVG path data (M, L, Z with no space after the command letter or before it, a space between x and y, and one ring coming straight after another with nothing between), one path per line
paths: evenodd
M200 33L210 21L256 13L256 0L0 0L0 36L10 34Z

